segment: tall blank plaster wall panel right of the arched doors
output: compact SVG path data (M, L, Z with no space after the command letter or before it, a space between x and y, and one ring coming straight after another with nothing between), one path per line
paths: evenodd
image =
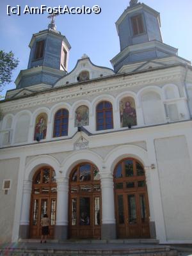
M185 136L155 140L168 240L192 237L192 166Z

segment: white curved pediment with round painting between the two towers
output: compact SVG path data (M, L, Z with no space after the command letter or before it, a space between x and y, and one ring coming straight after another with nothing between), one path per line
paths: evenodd
M111 68L94 65L90 58L84 54L82 58L77 61L76 67L72 72L67 74L67 76L61 77L61 79L54 84L54 87L84 82L104 76L111 76L113 74L115 74L115 72Z

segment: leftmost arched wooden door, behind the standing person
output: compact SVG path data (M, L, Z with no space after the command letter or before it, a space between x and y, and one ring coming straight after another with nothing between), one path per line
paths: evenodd
M38 238L42 234L40 221L44 214L48 214L49 238L54 237L56 224L56 173L50 166L38 169L33 175L30 210L30 237Z

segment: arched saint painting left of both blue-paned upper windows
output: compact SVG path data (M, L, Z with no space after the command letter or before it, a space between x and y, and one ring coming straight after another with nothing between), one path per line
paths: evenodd
M47 133L47 114L41 113L36 117L34 140L44 140Z

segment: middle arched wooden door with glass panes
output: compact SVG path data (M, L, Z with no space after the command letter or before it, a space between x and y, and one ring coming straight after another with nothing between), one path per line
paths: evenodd
M69 180L70 239L100 239L101 196L98 168L78 164Z

